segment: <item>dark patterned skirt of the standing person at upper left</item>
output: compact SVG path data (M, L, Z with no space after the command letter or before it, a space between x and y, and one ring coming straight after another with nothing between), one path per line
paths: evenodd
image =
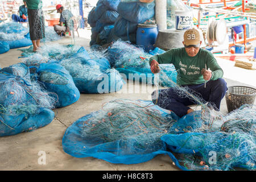
M30 39L39 40L45 37L44 15L42 9L27 9Z

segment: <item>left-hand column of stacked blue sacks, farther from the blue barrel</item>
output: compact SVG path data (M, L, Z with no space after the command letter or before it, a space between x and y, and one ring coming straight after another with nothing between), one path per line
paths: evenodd
M88 23L92 27L90 46L105 44L106 38L118 17L119 0L99 0L88 15Z

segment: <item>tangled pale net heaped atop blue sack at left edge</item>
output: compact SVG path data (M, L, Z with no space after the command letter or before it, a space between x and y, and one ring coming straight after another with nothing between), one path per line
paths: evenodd
M41 107L53 109L53 93L44 90L38 82L31 82L26 65L16 64L9 68L1 70L1 76L7 76L7 80L0 85L1 113L35 115Z

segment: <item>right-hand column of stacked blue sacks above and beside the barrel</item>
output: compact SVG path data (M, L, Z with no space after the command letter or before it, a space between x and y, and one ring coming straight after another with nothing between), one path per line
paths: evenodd
M150 2L150 1L148 1ZM117 7L119 14L110 31L108 43L121 38L136 43L136 31L139 23L147 23L155 16L155 1L144 3L139 0L121 0Z

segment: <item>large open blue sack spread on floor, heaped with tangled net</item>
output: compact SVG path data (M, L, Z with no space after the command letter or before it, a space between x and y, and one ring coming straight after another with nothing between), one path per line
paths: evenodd
M63 150L76 158L93 157L110 163L137 164L159 154L176 162L160 140L175 119L174 113L166 113L151 101L110 101L68 127Z

